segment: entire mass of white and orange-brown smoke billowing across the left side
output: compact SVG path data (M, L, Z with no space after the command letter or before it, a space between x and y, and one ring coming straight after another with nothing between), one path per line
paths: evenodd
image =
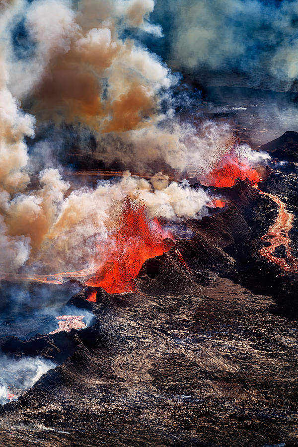
M21 267L45 274L96 270L106 260L127 199L145 205L149 219L168 221L198 218L210 201L186 181L153 175L158 165L208 173L230 136L225 122L201 117L196 127L174 114L169 87L177 77L128 33L158 35L149 22L153 6L152 0L81 0L76 7L67 0L15 0L3 6L0 269L5 274ZM14 30L12 23L18 23ZM21 111L19 101L30 114ZM54 167L30 176L35 160L28 162L25 142L34 137L33 113L39 131L48 121L57 129L64 123L74 123L78 132L89 129L96 140L94 157L148 169L152 181L125 173L120 180L74 190ZM241 150L252 156L250 149Z

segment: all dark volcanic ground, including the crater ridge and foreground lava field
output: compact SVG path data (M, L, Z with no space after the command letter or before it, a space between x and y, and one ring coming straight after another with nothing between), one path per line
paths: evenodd
M295 215L297 254L296 165L280 169L259 187ZM80 286L68 305L89 327L0 339L59 365L0 407L1 446L298 445L298 278L258 253L277 207L239 180L219 192L229 205L185 222L194 237L146 261L136 292L92 303Z

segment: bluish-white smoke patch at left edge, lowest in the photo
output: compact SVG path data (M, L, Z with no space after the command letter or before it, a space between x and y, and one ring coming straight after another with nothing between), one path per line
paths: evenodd
M56 365L41 357L14 359L0 354L0 404L16 400Z

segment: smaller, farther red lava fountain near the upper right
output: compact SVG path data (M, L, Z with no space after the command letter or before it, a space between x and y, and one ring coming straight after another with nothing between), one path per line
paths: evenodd
M208 174L201 174L201 183L218 188L231 187L235 180L248 180L256 185L260 180L258 172L248 162L237 138L229 140L221 151L219 158L213 163Z

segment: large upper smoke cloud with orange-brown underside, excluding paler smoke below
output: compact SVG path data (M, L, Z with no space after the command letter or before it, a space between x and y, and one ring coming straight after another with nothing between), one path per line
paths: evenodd
M11 88L30 96L37 116L87 124L100 132L147 126L157 116L159 91L172 82L156 56L131 39L153 1L64 0L24 3L30 57L10 61Z

